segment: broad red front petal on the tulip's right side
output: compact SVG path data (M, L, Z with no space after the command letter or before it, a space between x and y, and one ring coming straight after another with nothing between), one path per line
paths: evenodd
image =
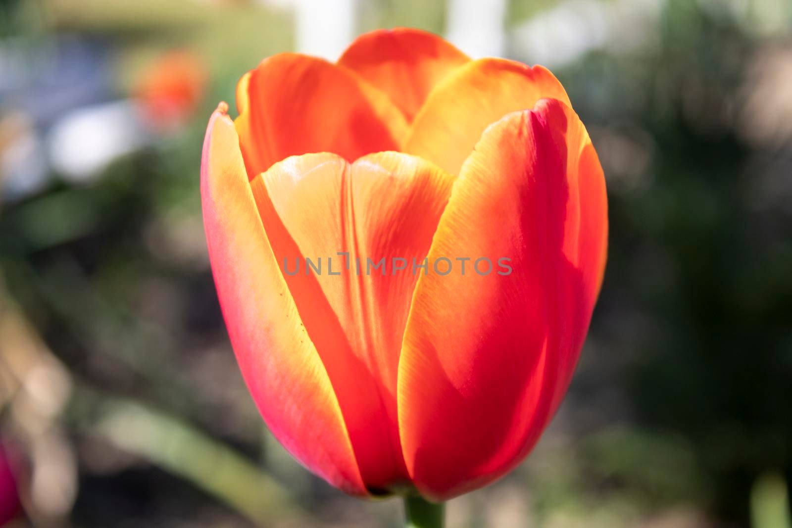
M489 127L429 251L454 268L419 279L399 363L402 447L425 496L478 488L531 450L577 363L606 250L604 177L577 115L543 100Z

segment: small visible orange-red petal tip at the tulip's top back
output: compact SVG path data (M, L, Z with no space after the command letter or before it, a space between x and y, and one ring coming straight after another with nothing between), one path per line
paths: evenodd
M407 120L413 120L432 88L469 60L440 36L420 29L394 28L358 37L338 64L387 93Z

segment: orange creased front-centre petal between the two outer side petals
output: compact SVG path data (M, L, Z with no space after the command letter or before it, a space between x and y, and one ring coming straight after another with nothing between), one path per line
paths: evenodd
M334 154L306 154L273 165L251 182L272 249L333 382L360 472L373 493L394 491L408 481L396 379L417 282L411 264L413 257L420 264L428 253L451 184L452 177L436 166L396 152L351 165ZM394 256L410 267L394 274ZM321 272L298 269L303 257L314 266L321 260ZM373 268L382 258L386 268Z

